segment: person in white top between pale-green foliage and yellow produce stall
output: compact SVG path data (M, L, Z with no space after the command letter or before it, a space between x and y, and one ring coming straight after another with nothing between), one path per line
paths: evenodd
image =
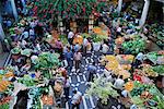
M118 77L115 83L114 83L114 86L116 89L122 89L124 88L124 85L125 85L125 81L122 80L122 75L120 75L120 77Z

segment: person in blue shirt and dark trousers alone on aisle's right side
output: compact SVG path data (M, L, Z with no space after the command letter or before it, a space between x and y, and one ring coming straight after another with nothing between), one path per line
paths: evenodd
M87 71L89 71L89 82L93 82L94 74L96 73L95 62L93 62L93 64L87 66Z

